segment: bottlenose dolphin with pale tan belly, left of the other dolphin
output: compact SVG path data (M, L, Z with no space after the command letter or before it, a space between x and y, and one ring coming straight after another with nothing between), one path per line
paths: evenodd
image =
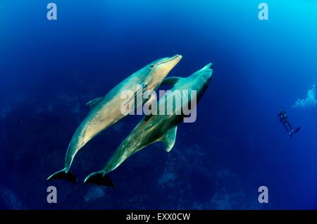
M142 89L156 89L170 70L178 64L181 58L182 56L175 55L170 58L160 58L149 63L144 68L141 68L120 82L104 97L89 101L86 105L91 108L91 111L77 128L70 141L65 158L65 168L49 176L47 180L63 179L76 182L75 175L70 173L70 166L75 154L77 154L90 139L128 115L123 114L120 110L122 104L127 101L127 99L122 99L123 97L121 97L120 94L128 90L134 92L136 95L139 92L138 86L141 86ZM132 98L134 99L135 96ZM140 103L142 104L143 101ZM136 107L137 106L140 105L136 105Z

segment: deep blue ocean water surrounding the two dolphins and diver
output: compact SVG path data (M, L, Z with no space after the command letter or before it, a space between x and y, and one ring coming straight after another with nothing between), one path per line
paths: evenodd
M265 2L262 21L256 0L54 0L50 21L49 1L2 0L0 208L317 209L317 108L292 106L317 83L317 3ZM79 152L77 185L46 182L87 101L175 54L169 76L215 67L197 121L179 125L170 153L154 144L135 154L111 173L116 189L84 185L142 118L130 116ZM280 107L302 127L292 139ZM57 204L46 202L51 185Z

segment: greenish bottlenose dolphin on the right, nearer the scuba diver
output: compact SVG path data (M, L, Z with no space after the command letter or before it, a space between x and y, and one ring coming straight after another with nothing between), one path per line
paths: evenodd
M132 154L147 147L149 144L160 141L165 144L166 151L170 151L175 144L177 125L181 123L185 117L183 113L178 112L182 111L182 107L186 104L188 106L190 101L196 100L197 102L201 98L211 80L213 73L212 68L213 65L209 63L189 77L169 77L163 80L162 84L172 85L173 88L159 100L157 108L166 105L166 103L173 102L172 113L165 113L163 115L150 114L145 116L135 129L132 130L130 135L123 140L116 152L106 163L106 166L104 166L101 171L88 175L85 182L114 187L112 180L107 174L120 166L120 164L132 156ZM173 97L175 97L173 92L175 92L175 90L194 90L196 94L191 94L190 97L185 99L183 99L183 95L181 95L182 104L177 105L174 104L173 101Z

